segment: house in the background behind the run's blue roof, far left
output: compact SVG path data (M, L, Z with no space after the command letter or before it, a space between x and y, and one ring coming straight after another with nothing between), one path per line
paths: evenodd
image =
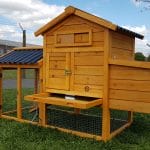
M27 44L28 46L37 46L34 44ZM22 42L15 42L10 40L2 40L0 39L0 55L9 52L15 47L22 47Z

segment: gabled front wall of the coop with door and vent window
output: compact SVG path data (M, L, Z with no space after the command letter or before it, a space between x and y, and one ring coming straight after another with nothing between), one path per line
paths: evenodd
M104 30L71 15L45 33L47 92L102 97Z

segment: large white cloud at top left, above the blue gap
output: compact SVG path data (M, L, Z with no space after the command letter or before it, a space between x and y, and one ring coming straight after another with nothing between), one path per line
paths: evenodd
M0 14L25 27L39 27L64 10L64 6L48 5L41 0L0 0Z

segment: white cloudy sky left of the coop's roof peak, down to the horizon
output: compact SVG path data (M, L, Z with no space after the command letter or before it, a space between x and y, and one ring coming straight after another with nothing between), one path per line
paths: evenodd
M21 29L18 26L18 23L21 23L27 30L27 42L42 44L41 37L36 38L33 33L60 14L64 8L48 5L42 0L0 0L0 17L7 19L7 23L0 22L0 38L22 40ZM13 25L9 22L13 22Z

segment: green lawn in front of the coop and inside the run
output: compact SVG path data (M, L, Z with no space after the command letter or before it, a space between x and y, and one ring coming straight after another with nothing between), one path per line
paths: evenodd
M5 107L15 107L15 90L4 90ZM24 89L24 94L32 89ZM24 104L27 104L24 102ZM0 119L0 150L149 150L150 115L135 114L134 123L107 143L54 129Z

